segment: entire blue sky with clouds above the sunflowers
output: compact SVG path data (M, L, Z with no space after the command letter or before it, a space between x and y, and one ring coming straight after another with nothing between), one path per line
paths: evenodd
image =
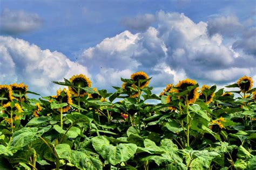
M256 82L256 1L0 0L0 84L43 96L85 74L114 91L143 71L159 94L186 78Z

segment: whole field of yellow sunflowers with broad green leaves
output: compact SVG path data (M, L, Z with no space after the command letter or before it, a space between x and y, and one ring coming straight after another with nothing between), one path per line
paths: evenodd
M159 95L144 72L121 80L108 93L74 75L39 99L0 85L0 169L256 168L251 77L226 86L236 91L186 79Z

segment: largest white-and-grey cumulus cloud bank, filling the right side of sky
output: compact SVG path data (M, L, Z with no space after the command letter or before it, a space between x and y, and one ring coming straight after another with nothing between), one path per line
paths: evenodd
M157 26L153 27L149 18ZM235 16L195 23L183 13L159 11L127 23L131 29L141 29L106 38L79 56L79 62L97 74L96 84L114 86L120 82L113 83L117 77L127 78L139 70L153 76L151 85L157 89L186 77L211 85L231 83L244 75L255 76L255 30L246 31ZM234 30L229 33L226 26ZM225 37L238 35L237 29L244 36L228 38L232 41L224 43Z

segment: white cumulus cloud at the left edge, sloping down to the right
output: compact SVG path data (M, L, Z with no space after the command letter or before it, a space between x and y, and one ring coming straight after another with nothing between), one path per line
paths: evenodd
M29 44L22 39L0 36L0 83L29 85L29 90L42 95L55 94L51 81L63 81L73 74L86 74L87 68L70 61L64 54Z

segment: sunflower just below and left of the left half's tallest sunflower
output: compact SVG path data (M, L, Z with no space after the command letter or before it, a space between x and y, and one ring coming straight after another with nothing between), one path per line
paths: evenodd
M65 88L63 90L59 89L57 90L56 96L51 96L52 98L55 98L56 101L60 103L68 103L69 105L62 108L63 112L67 112L71 109L70 105L73 104L71 99L71 94L69 90L66 90ZM60 111L60 108L58 109Z

